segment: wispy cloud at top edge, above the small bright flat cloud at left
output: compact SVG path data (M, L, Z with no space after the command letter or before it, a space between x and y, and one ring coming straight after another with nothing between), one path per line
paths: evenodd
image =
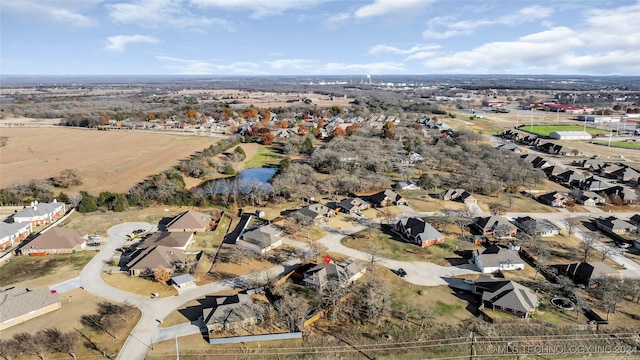
M187 9L185 0L137 0L131 3L107 5L109 17L117 23L144 27L172 27L199 29L203 26L221 25L232 31L227 21L194 15Z

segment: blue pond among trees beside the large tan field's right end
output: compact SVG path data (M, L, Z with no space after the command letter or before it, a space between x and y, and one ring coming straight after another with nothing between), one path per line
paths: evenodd
M266 191L271 191L269 180L276 174L277 168L250 168L239 172L236 176L209 180L196 189L196 192L209 192L225 194L233 186L238 186L240 193L248 193L254 186L262 186Z

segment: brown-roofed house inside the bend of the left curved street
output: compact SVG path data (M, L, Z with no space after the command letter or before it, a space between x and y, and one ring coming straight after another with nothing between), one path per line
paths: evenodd
M127 262L126 268L130 275L144 276L153 274L160 268L173 272L182 268L186 262L187 255L184 251L164 245L152 245L137 249Z

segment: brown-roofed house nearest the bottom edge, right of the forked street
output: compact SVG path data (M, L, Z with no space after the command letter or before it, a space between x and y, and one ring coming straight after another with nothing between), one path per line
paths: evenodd
M256 324L259 306L247 294L216 298L216 306L202 312L202 321L209 333L240 331Z

